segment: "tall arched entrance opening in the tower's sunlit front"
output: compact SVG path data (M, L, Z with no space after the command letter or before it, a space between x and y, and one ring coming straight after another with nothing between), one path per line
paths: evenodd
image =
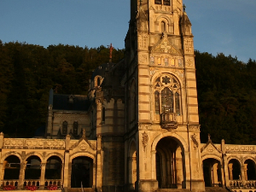
M156 179L160 189L185 189L186 173L182 145L164 137L156 145Z

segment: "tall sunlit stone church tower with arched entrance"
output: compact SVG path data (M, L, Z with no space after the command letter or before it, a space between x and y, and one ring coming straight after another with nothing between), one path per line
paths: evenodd
M125 50L126 188L204 191L193 35L182 0L131 0Z

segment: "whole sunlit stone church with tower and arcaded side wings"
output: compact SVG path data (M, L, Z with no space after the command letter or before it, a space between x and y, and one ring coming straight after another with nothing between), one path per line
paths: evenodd
M201 143L193 34L182 0L131 0L124 60L96 68L88 96L50 90L45 137L0 135L2 186L256 188L256 146L210 137Z

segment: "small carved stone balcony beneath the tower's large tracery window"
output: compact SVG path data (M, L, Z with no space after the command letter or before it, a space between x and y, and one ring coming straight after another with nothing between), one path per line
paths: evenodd
M167 130L177 129L177 113L161 113L160 125Z

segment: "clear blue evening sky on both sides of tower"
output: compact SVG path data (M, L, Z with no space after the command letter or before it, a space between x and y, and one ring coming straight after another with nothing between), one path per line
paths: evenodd
M183 0L195 49L256 59L255 0ZM125 48L130 0L0 0L0 39Z

